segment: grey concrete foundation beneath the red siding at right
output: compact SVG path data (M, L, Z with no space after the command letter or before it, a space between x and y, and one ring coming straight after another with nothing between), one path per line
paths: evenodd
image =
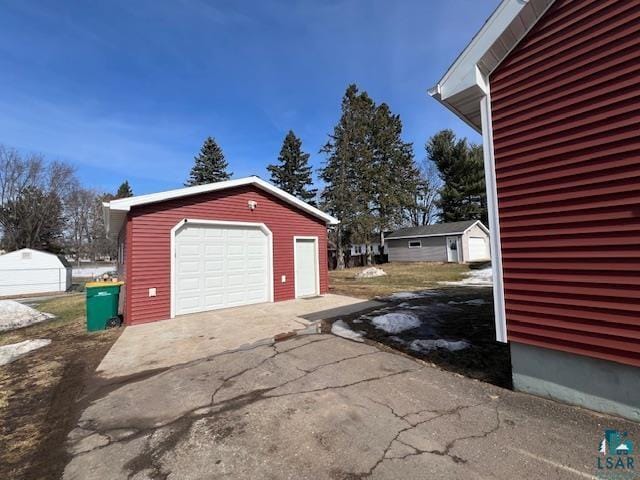
M640 421L640 368L511 342L521 392Z

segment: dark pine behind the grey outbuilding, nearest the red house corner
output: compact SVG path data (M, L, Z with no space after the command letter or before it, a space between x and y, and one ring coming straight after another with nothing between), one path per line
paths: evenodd
M438 168L443 187L440 190L440 220L487 221L482 147L457 139L451 130L443 130L427 142L427 155Z

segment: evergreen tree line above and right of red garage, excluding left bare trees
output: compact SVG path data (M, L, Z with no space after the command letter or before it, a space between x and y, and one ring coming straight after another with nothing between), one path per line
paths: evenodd
M426 161L416 162L413 145L402 140L402 122L386 103L376 104L349 85L341 115L320 153L322 188L314 187L312 167L302 141L290 130L278 160L267 166L270 181L290 194L340 219L332 233L338 268L350 244L369 246L402 226L434 221L480 219L486 223L482 148L458 139L451 130L431 137ZM229 164L215 139L205 140L186 185L228 180Z

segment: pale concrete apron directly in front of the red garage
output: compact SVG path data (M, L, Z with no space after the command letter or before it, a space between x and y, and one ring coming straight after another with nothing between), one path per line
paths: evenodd
M382 305L343 295L323 295L277 303L181 315L127 327L98 366L114 378L191 362L275 335L308 327L313 321Z

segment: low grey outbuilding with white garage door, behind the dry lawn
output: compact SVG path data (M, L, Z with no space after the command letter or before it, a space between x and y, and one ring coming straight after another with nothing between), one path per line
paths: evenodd
M468 263L491 258L480 220L401 228L385 237L390 262Z

